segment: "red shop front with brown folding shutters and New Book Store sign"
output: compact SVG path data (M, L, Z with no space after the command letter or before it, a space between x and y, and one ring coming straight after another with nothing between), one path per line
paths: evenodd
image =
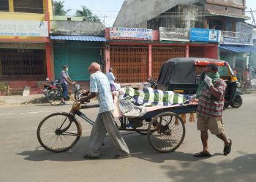
M184 31L184 35L177 36ZM113 73L123 85L140 85L147 76L157 79L162 63L170 58L218 57L215 42L189 41L189 31L173 28L162 32L145 28L106 28L106 71ZM180 33L178 33L180 34Z

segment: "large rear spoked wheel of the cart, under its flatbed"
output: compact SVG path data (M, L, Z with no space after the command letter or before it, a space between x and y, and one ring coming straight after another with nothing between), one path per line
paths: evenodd
M148 124L148 141L159 152L175 151L184 141L185 125L180 116L164 112Z

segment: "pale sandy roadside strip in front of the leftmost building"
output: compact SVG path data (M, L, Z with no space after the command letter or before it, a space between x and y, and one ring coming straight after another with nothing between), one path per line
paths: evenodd
M0 106L17 106L23 104L36 104L36 103L47 103L45 100L45 95L10 95L10 96L0 96Z

